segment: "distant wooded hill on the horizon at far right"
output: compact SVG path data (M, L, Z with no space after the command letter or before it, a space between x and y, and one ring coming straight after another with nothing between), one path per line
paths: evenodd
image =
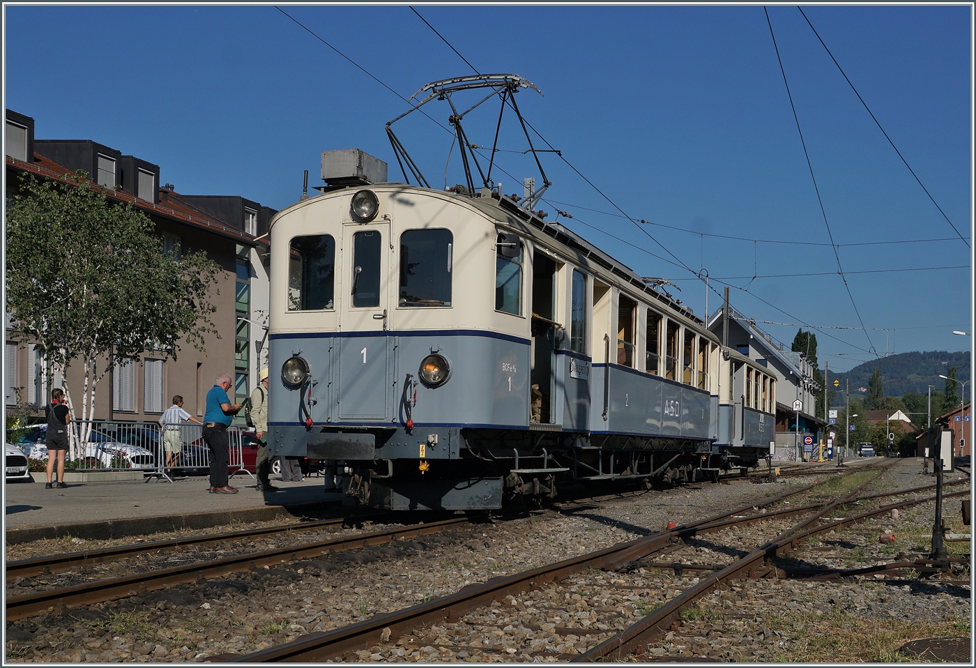
M946 387L945 379L939 375L948 375L949 367L956 367L956 378L960 383L969 380L969 352L947 353L946 351L931 351L926 353L901 353L881 357L874 361L864 362L846 373L830 371L827 382L834 387L834 378L840 381L837 390L844 389L844 381L850 379L851 397L864 397L865 393L859 388L867 388L868 380L876 367L884 381L885 397L901 397L909 392L924 395L928 386L934 385L938 390ZM956 388L956 392L961 388ZM969 398L969 386L966 387L966 398Z

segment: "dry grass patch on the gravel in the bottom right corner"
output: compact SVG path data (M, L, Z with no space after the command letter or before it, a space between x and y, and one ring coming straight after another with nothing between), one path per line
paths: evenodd
M771 661L787 663L845 662L898 663L916 660L898 653L898 647L918 638L969 635L968 620L881 619L834 609L827 615L785 612L764 617L763 623L793 640L773 654Z

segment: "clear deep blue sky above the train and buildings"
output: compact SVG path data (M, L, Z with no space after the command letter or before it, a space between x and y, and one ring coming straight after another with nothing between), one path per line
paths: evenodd
M408 6L282 9L404 98L472 73ZM871 347L969 349L970 338L951 332L972 331L970 249L793 5L770 6L769 17L853 304L761 6L417 9L479 71L533 81L545 96L518 94L526 119L612 200L543 154L548 220L556 208L570 213L560 222L642 275L671 279L695 313L705 311L705 284L654 256L705 268L718 293L731 286L741 313L787 323L760 324L787 346L799 324L855 328L816 330L821 360L838 371L874 358ZM273 6L5 11L5 103L35 119L39 139L92 139L160 165L161 182L180 192L274 208L298 199L305 169L320 183L323 149L360 147L402 180L384 125L407 106ZM969 7L804 12L970 237ZM446 104L425 108L446 125ZM469 138L490 146L496 120L494 104L472 112ZM443 187L451 136L419 113L394 130ZM500 153L506 193L521 194L523 177L539 181L513 124L500 146L512 151ZM464 181L460 165L455 150L449 186ZM642 227L654 239L617 207L650 222ZM946 267L961 269L927 269ZM797 275L810 273L825 275ZM718 300L712 291L709 311ZM862 321L874 331L856 329Z

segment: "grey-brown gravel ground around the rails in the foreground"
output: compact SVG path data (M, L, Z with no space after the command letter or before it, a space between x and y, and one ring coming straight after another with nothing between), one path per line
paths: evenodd
M915 475L915 467L909 463L914 461L900 464L895 473L885 473L876 490L931 483L931 477ZM567 502L527 518L247 571L228 576L233 579L177 586L67 614L37 615L8 627L7 660L200 661L224 652L247 653L444 596L470 583L630 540L661 530L670 521L701 520L747 503L759 509L764 499L810 482L701 483ZM801 496L812 498L813 494L797 495L791 503L813 502ZM872 536L876 541L876 531L888 529L906 536L896 552L915 549L916 545L906 545L905 540L921 540L917 527L925 522L931 531L932 515L926 505L904 512L899 521L881 520L876 528L859 524L850 533L832 534L830 539L861 541L854 548L864 550L858 559L890 558L884 550L894 548L876 545ZM773 523L781 528L792 525L791 521ZM731 560L737 550L754 547L752 541L768 539L771 525L738 527L728 535L705 534L681 548L690 551L682 553L681 560L711 564ZM304 539L307 534L296 535ZM95 541L86 547L96 547L92 543ZM266 548L267 543L252 549ZM817 564L851 559L840 552L839 546L835 555L811 551L814 557L804 555L804 559L816 559ZM676 554L669 554L667 561L676 560ZM968 571L964 577L968 578ZM626 628L695 581L687 574L676 577L653 568L638 567L630 573L593 571L518 600L497 602L456 624L393 639L384 647L373 648L376 651L359 652L346 660L564 661L595 646L607 634ZM956 635L969 634L968 586L918 583L906 591L875 582L818 583L813 587L790 580L733 584L733 590L712 593L708 605L702 605L708 613L692 610L683 614L685 618L670 632L674 634L671 638L625 660L693 655L716 661L773 660L789 658L800 649L813 655L810 639L822 636L821 626L837 615L903 625L914 619L915 627L919 618L930 617L949 624ZM906 610L909 616L895 617L890 610Z

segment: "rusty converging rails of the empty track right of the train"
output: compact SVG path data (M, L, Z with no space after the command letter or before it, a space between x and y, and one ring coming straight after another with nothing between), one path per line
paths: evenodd
M883 473L883 471L879 473ZM832 510L835 510L843 504L877 499L885 496L905 495L925 491L934 486L925 485L923 487L904 489L896 492L883 492L858 496L857 494L860 489L869 484L871 481L872 480L868 480L853 492L826 503L784 509L772 513L764 513L760 514L760 516L762 516L761 518L759 516L733 518L732 516L735 516L738 513L746 512L752 507L737 509L736 511L732 511L727 514L715 516L701 522L694 522L685 526L676 527L670 531L652 534L644 538L614 546L613 548L607 548L591 553L590 555L566 560L565 562L561 562L559 564L552 564L550 566L536 568L511 576L496 578L480 585L472 585L454 595L444 597L436 601L431 601L427 604L415 605L404 610L377 615L351 626L305 636L292 643L286 643L277 647L269 647L267 649L243 656L237 654L225 654L211 657L208 660L243 662L322 661L342 657L347 655L347 652L351 651L359 651L362 653L362 651L368 647L388 647L391 643L397 643L398 639L407 637L409 634L413 633L415 629L432 628L436 624L446 626L458 624L460 623L462 617L465 617L466 615L471 616L474 614L472 613L472 610L477 610L478 608L484 606L499 605L498 602L506 597L511 599L513 596L518 596L529 591L538 592L539 590L555 585L555 583L558 581L566 580L567 578L581 572L593 572L590 570L593 568L599 568L603 571L622 570L628 564L632 564L648 556L655 554L661 555L668 551L673 551L679 547L679 541L699 533L717 531L723 527L734 526L744 522L762 522L763 520L770 519L782 520L794 515L808 515L808 517L801 522L789 527L785 531L782 531L774 540L768 541L761 548L752 551L752 553L746 558L737 561L735 564L723 566L720 570L717 570L712 576L709 576L709 578L702 581L705 586L700 587L696 585L696 587L693 587L692 590L682 594L681 596L683 598L679 604L665 605L660 608L657 613L648 615L648 617L645 617L643 620L641 620L641 622L638 622L637 625L634 625L634 627L638 627L639 625L643 624L643 626L650 629L658 629L658 627L661 625L665 625L667 627L667 625L671 623L671 617L673 614L676 614L677 611L683 606L689 605L698 597L707 593L710 589L712 589L712 587L716 586L717 583L728 580L734 576L768 577L780 574L780 571L777 571L775 566L765 565L763 562L770 559L771 555L775 557L778 552L783 551L784 549L790 549L792 546L810 536L816 535L820 532L834 530L835 528L844 526L848 523L860 522L864 519L890 512L890 510L894 508L902 508L924 503L932 498L925 497L922 499L905 500L865 513L850 516L841 521L829 522L819 526L814 525L822 518L825 518ZM966 480L960 480L959 482L965 481ZM805 491L812 486L814 485L806 486L802 490L794 490L791 494L783 495L781 497L767 499L764 503L771 505L773 503L783 501L787 497L799 493L800 491ZM958 494L966 493L968 493L968 491L959 492ZM811 511L813 512L811 513ZM915 564L915 567L918 567L918 564ZM851 573L836 571L833 574L836 577L845 575L849 576ZM627 587L627 585L616 586ZM631 586L630 589L638 590L642 589L642 587ZM648 588L643 587L643 589ZM664 610L664 612L661 612L661 610ZM497 611L498 610L493 610L493 612ZM651 619L651 621L648 622L648 619ZM588 635L599 633L593 628L573 629L565 626L553 626L549 629L549 632L551 632L553 628L557 629L557 633L578 632L579 634L583 634L585 632ZM423 635L424 634L422 633L421 636ZM604 632L602 635L608 634ZM646 643L649 637L650 636L648 635L647 629L643 627L632 630L629 628L621 631L615 636L611 636L609 639L606 639L599 646L594 647L583 656L578 656L576 652L565 654L553 654L550 651L541 653L529 652L528 654L522 656L522 660L531 660L533 656L556 656L561 660L569 658L578 658L580 660L615 658L619 657L620 654L613 654L613 651L619 652L626 650L628 647L636 647L640 643ZM445 639L443 637L439 638L438 641L440 642L440 645L444 645L445 643ZM426 641L423 638L411 638L410 644L413 646L421 642ZM611 646L616 647L616 649L613 651L608 650L607 647ZM599 649L599 651L596 651L597 649ZM494 650L486 648L486 651ZM505 651L510 653L508 649ZM528 658L526 658L526 656Z

